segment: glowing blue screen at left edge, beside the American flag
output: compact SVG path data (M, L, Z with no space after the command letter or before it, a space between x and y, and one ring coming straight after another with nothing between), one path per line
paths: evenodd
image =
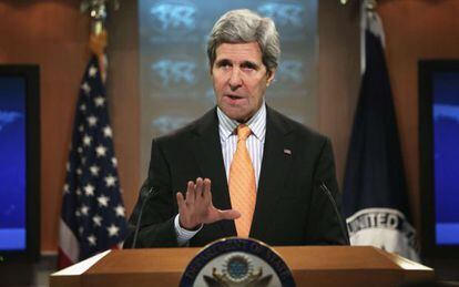
M26 80L0 78L0 250L26 249Z

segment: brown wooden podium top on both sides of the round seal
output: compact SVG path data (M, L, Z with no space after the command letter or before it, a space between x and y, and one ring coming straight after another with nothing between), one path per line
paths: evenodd
M434 270L367 246L274 248L297 286L399 286L434 279ZM108 250L50 276L51 287L178 286L201 248Z

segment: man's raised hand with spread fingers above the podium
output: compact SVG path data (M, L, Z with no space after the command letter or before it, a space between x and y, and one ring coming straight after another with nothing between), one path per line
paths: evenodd
M196 229L201 224L210 224L222 219L236 219L241 213L234 209L221 211L212 203L211 180L196 178L190 181L186 198L176 194L178 203L180 225L188 230Z

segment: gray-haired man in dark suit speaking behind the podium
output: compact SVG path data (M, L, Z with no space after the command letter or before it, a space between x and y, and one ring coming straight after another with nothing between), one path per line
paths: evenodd
M269 245L345 244L329 140L265 104L276 73L274 22L248 10L224 14L207 55L217 106L154 140L149 177L131 216L135 247L203 246L228 236Z

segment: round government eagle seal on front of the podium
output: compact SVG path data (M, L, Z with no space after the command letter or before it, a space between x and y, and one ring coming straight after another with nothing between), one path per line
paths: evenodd
M295 286L292 271L266 244L231 237L204 247L186 267L181 287Z

